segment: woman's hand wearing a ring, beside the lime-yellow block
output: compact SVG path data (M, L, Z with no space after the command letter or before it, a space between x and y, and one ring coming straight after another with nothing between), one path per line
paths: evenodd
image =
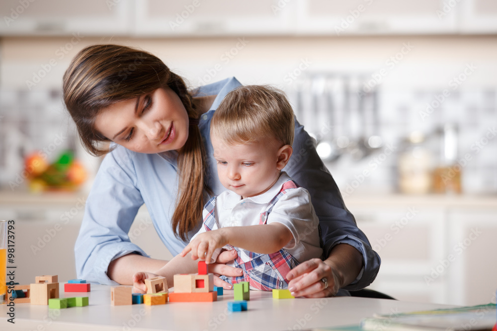
M290 280L288 289L294 297L330 297L342 286L335 266L328 260L312 259L301 263L288 272L287 279Z

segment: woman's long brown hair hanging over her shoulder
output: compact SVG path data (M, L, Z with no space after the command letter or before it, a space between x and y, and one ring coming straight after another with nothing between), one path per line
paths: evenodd
M181 99L188 117L200 117L185 82L156 56L121 45L93 45L72 60L63 78L63 94L85 149L95 155L109 150L109 141L95 129L98 113L114 103L134 99L160 87L170 87ZM179 196L171 225L183 241L202 220L206 181L205 148L200 130L189 126L188 139L178 153Z

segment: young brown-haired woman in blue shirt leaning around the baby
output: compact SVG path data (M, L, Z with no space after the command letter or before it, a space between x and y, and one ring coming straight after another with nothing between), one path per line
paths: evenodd
M145 203L159 237L176 255L202 224L202 207L224 191L212 157L210 119L224 96L241 86L235 78L188 91L183 79L157 57L119 45L83 49L66 70L64 101L85 148L105 154L86 200L76 241L79 278L101 284L132 284L137 271L160 269L127 235ZM378 272L379 256L345 208L312 138L296 121L294 153L283 169L312 197L320 219L325 261L312 259L287 279L296 296L335 295L360 289ZM209 156L207 156L209 155ZM224 252L211 272L239 276L224 265ZM217 286L231 285L216 278Z

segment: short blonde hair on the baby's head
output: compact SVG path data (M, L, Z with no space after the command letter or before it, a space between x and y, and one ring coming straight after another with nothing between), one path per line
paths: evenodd
M293 110L285 93L269 85L247 85L226 95L211 120L211 134L229 144L274 138L292 145Z

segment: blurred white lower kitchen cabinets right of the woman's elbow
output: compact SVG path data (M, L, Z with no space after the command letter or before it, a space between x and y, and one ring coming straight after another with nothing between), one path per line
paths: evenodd
M345 203L382 260L371 289L413 302L496 301L496 197L350 196Z

